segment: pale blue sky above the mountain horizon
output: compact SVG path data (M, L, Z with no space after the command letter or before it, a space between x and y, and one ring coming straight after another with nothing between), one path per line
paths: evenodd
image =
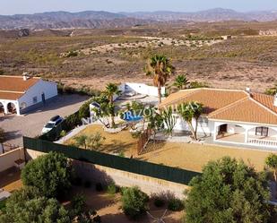
M276 0L0 0L0 14L85 10L135 12L169 10L193 12L215 7L240 12L277 10Z

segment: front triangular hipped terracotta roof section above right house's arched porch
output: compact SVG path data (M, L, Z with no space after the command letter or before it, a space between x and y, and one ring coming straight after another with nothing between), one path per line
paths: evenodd
M240 100L212 113L209 118L256 124L277 124L277 115L253 99Z

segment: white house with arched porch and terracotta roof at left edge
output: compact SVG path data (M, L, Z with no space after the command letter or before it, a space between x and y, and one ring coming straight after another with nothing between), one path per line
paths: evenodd
M22 76L0 76L0 110L4 114L27 113L56 96L55 82L28 77L27 73Z

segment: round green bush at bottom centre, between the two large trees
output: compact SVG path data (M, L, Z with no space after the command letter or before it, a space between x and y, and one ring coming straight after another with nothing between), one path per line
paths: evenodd
M138 219L147 210L147 194L138 187L126 188L122 196L122 209L130 219Z

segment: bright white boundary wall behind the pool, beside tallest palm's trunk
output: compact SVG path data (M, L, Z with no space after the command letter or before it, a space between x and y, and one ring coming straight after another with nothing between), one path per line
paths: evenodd
M119 90L122 92L125 91L135 91L138 94L143 94L143 95L149 95L149 96L154 96L158 97L158 88L146 85L144 83L131 83L131 82L126 82L124 84L121 84L119 86ZM166 93L165 87L161 88L161 95L164 95Z

